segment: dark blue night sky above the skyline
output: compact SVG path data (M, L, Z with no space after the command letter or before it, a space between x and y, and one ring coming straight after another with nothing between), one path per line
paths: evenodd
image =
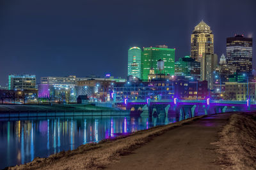
M0 85L10 73L125 78L129 46L168 45L177 60L202 19L220 57L227 37L256 39L255 9L255 0L0 0Z

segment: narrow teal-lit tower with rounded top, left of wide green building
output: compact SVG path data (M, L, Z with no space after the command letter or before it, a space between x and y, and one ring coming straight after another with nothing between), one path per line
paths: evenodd
M141 78L141 55L142 51L137 46L128 50L128 76Z

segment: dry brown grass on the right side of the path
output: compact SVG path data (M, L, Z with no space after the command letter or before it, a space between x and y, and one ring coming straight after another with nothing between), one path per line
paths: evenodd
M232 115L219 134L220 141L213 144L224 169L256 169L256 113Z

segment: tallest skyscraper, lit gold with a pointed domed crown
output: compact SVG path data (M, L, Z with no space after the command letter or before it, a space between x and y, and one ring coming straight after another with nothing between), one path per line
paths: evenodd
M213 43L211 28L202 20L191 34L190 57L200 62L204 53L214 53Z

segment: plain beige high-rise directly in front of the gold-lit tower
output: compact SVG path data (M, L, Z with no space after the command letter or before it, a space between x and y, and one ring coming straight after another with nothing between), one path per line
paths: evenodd
M208 88L213 88L213 76L215 67L218 64L218 55L216 53L204 53L201 60L201 80L208 81Z

